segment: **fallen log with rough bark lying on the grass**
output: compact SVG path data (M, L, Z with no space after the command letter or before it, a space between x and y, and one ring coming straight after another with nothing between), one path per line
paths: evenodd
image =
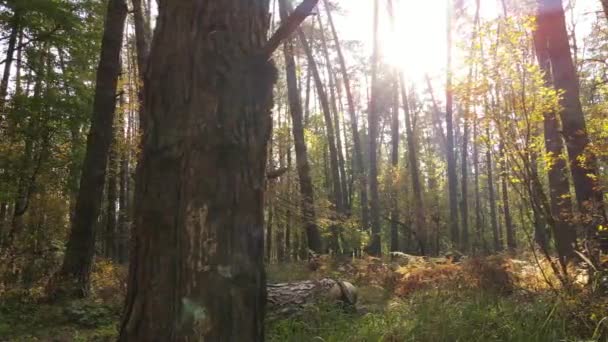
M269 284L267 290L267 310L270 316L289 316L322 301L345 306L357 303L357 288L353 284L329 278Z

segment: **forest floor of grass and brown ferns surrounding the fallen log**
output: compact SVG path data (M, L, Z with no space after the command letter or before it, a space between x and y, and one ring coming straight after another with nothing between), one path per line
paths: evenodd
M355 309L318 303L269 320L268 341L608 341L608 299L560 290L548 265L525 257L323 258L316 271L307 263L267 271L269 282L350 281L359 297ZM0 341L113 341L125 272L98 262L87 300L51 305L42 286L5 290Z

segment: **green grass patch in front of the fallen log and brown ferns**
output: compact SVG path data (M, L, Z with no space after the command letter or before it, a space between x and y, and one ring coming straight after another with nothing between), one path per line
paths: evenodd
M575 341L568 317L549 298L483 292L418 293L383 311L348 313L329 305L270 323L268 341ZM585 339L592 341L593 339Z

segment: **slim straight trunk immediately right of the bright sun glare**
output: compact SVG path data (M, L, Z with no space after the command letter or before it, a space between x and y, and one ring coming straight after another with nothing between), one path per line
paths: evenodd
M449 207L450 207L450 236L454 246L458 246L460 241L460 233L458 228L458 176L456 175L456 156L454 152L454 118L453 118L453 100L454 94L452 91L452 2L448 0L448 29L447 29L447 78L446 78L446 109L445 109L445 126L446 126L446 153L448 161L448 192L449 192Z

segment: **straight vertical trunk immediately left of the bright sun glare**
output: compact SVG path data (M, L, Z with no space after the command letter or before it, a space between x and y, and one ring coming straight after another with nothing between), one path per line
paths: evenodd
M369 191L370 191L370 213L371 213L371 239L367 252L371 255L382 254L382 244L380 241L380 198L378 196L378 130L379 130L379 114L378 114L378 0L374 0L374 26L373 26L373 56L372 56L372 94L370 96L369 108L367 113L368 131L369 131Z

